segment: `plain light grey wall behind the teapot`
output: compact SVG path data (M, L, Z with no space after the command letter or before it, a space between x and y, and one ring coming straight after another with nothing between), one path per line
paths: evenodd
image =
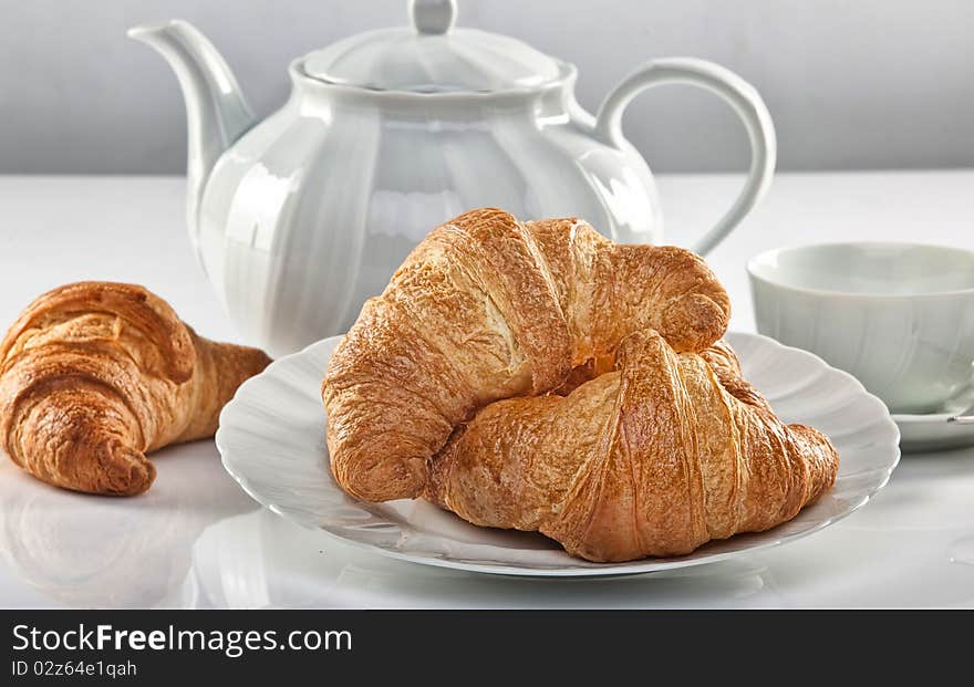
M125 38L185 18L255 108L287 64L354 32L405 24L405 0L0 0L0 173L182 173L183 101L162 59ZM754 83L779 169L974 166L974 2L965 0L459 0L460 25L515 35L580 69L579 98L652 58L717 61ZM626 135L657 171L744 169L712 96L641 97Z

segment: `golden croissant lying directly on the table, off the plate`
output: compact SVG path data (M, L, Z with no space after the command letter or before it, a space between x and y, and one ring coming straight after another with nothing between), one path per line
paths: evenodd
M197 336L142 287L61 287L0 343L0 446L51 485L141 493L156 473L145 454L211 436L240 383L269 362Z

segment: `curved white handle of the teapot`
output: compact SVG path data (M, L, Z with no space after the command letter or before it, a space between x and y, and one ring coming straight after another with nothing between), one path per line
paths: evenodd
M667 83L701 86L724 98L737 113L750 139L750 170L737 200L721 220L694 244L705 254L757 205L775 171L777 142L771 115L757 91L740 76L719 64L694 58L654 60L636 70L605 96L595 117L595 136L614 147L626 145L622 136L622 113L643 90Z

